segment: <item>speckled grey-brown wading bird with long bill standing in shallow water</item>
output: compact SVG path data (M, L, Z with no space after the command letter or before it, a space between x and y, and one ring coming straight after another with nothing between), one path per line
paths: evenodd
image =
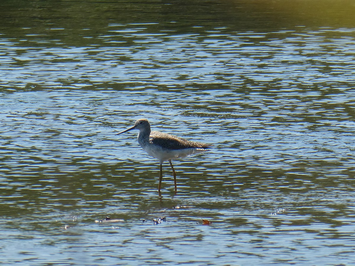
M171 169L173 170L176 195L178 190L176 185L176 172L171 160L176 158L184 158L194 153L207 151L209 148L211 148L210 144L186 140L160 131L151 131L151 124L145 118L138 119L133 127L121 131L116 135L131 131L133 129L139 130L137 140L142 149L146 151L150 156L159 160L159 195L161 195L160 189L162 187L163 180L163 162L169 161Z

